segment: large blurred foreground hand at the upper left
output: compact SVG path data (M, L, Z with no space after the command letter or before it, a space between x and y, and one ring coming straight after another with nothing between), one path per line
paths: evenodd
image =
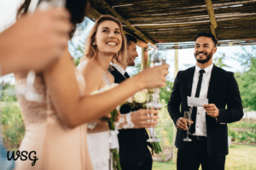
M0 34L2 74L42 71L61 57L72 30L67 9L37 11Z

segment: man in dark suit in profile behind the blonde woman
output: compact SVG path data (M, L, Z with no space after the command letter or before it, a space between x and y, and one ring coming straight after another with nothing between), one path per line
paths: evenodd
M125 35L127 45L127 65L119 65L118 62L113 60L113 70L108 69L114 77L115 83L125 81L130 78L125 71L127 66L134 66L134 60L137 58L137 39L130 35ZM137 109L131 109L130 105L123 105L120 108L121 114L127 114L131 111L137 111ZM147 110L138 110L141 114L147 112ZM119 156L122 170L151 170L152 169L152 156L148 150L148 133L145 128L137 129L122 129L119 130Z

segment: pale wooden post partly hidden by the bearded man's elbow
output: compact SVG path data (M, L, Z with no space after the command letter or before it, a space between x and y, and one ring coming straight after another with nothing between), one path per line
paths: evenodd
M177 42L175 43L176 48L174 49L174 79L177 75L178 72L178 49L177 49ZM175 127L175 124L173 123L173 135L172 135L172 144L173 144L173 163L177 163L177 148L175 146L175 139L176 139L176 133L177 133L177 128Z

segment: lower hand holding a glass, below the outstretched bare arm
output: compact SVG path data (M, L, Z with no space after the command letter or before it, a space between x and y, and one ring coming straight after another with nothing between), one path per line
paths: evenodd
M145 110L140 109L131 113L131 122L134 124L134 128L144 128L144 127L156 127L159 119L157 110ZM153 116L148 116L153 114ZM153 120L153 121L152 121Z

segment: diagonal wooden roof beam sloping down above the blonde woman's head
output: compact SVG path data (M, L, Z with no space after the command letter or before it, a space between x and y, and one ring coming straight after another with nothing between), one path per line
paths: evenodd
M142 38L143 41L149 42L151 44L155 44L153 40L146 37L141 31L137 30L135 26L132 26L131 23L126 20L122 15L120 15L112 6L108 3L106 0L98 0L100 3L102 3L106 8L108 8L109 11L111 11L121 22L125 23L126 26L128 26L134 34L136 34L138 37Z

